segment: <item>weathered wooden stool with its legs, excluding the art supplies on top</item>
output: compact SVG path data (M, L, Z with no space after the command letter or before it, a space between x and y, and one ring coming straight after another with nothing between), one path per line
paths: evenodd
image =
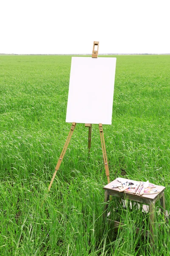
M136 183L135 180L134 183ZM118 198L122 198L124 200L131 200L131 201L136 201L139 203L142 203L143 209L147 209L146 205L149 205L149 215L150 215L150 242L151 245L153 246L153 242L154 242L154 221L155 221L155 203L156 201L160 200L160 204L161 204L161 213L163 214L163 217L166 218L166 210L165 210L165 198L164 198L164 186L156 186L156 188L154 189L159 189L159 193L157 194L144 194L144 195L136 195L136 194L132 194L132 193L128 193L126 191L124 192L119 192L119 188L111 188L111 186L113 184L120 184L117 180L113 180L111 183L109 183L108 185L104 186L103 189L105 189L105 208L104 208L104 218L106 219L106 216L108 217L108 203L109 203L109 196L116 196ZM146 204L146 205L145 205ZM114 221L114 227L120 227L121 225L123 225L122 223L120 223L119 221ZM144 229L139 229L136 228L136 233L140 232L144 232ZM148 235L148 231L146 232L146 236Z

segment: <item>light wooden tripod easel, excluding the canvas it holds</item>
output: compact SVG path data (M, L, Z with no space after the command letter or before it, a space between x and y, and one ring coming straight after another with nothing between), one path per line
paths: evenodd
M97 46L97 50L95 50L95 46ZM99 51L99 42L97 41L94 41L94 45L93 45L93 52L92 52L92 58L97 58L98 57L98 51ZM60 157L59 157L59 160L57 162L57 166L55 168L55 172L54 172L54 175L52 177L52 180L50 182L50 185L48 187L48 191L50 191L51 189L51 186L52 186L52 183L54 181L54 178L57 174L57 171L59 170L59 166L61 165L62 163L62 159L65 155L65 152L68 148L68 144L71 140L71 137L73 135L73 132L74 132L74 128L76 126L76 122L73 122L72 125L71 125L71 129L70 129L70 132L68 134L68 137L67 137L67 140L65 142L65 145L62 149L62 152L60 154ZM88 157L90 158L90 148L91 148L91 124L85 124L85 127L88 127ZM104 134L103 134L103 128L102 128L102 124L99 123L99 133L100 133L100 139L101 139L101 144L102 144L102 151L103 151L103 160L104 160L104 164L105 164L105 173L106 173L106 176L107 176L107 179L108 179L108 183L110 183L110 179L109 179L109 168L108 168L108 159L107 159L107 154L106 154L106 147L105 147L105 140L104 140Z

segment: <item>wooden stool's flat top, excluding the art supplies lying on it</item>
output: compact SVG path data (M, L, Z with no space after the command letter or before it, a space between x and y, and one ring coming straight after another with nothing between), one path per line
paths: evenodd
M128 181L128 179L124 179L124 180ZM139 181L136 181L136 180L130 180L130 181L132 181L132 182L134 181L134 183L139 182ZM129 192L126 192L126 191L119 192L119 188L111 188L111 186L113 184L120 184L120 185L122 185L118 180L113 180L111 183L109 183L108 185L104 186L103 189L107 190L110 195L115 195L117 197L123 197L123 198L126 197L126 198L129 198L129 199L133 200L133 201L138 201L138 202L157 201L157 199L160 198L160 196L162 195L162 192L166 188L164 186L155 185L156 187L154 189L159 189L159 193L157 193L157 194L136 195L136 194L129 193Z

